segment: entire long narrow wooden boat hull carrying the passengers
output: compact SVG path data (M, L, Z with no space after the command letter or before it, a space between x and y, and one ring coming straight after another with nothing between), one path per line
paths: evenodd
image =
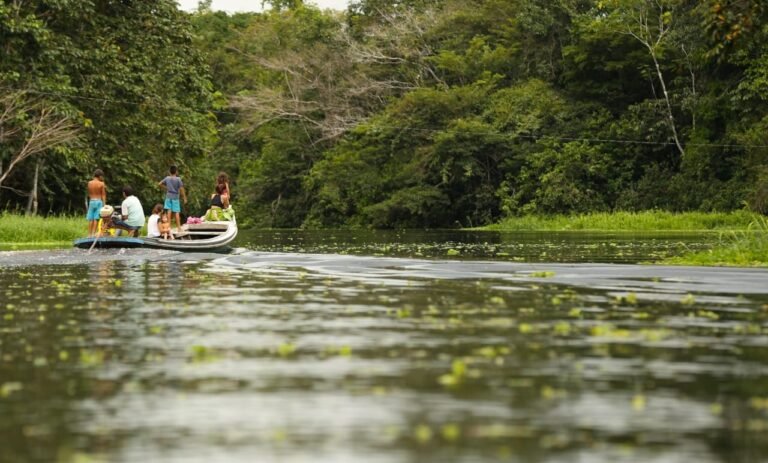
M181 231L174 232L174 236L175 239L172 240L148 236L79 238L74 241L74 245L83 249L144 247L172 251L216 251L226 247L237 237L237 222L233 219L186 224L181 226Z

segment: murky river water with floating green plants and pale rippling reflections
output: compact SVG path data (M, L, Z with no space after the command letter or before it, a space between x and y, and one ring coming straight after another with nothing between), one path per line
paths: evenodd
M0 461L768 461L768 271L711 236L0 253Z

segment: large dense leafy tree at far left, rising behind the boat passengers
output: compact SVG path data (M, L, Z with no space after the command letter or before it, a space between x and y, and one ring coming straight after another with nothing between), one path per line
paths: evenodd
M0 85L65 105L83 129L80 143L62 153L67 168L49 162L43 170L45 202L79 206L96 167L106 173L109 201L121 199L123 184L145 201L160 199L154 184L168 165L191 165L215 140L212 88L186 16L172 0L35 3L0 10L8 52ZM33 166L20 166L15 185L29 189ZM195 191L188 169L185 180L193 195L208 193Z

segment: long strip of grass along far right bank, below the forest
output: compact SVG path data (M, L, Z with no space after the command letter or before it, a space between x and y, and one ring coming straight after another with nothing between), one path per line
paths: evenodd
M726 231L746 230L759 216L747 211L610 212L509 217L483 227L498 231Z

